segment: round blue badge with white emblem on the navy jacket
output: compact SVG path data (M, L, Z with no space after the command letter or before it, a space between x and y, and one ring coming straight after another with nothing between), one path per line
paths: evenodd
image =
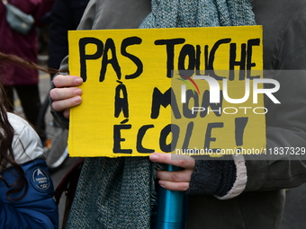
M51 184L49 173L41 168L34 169L31 172L31 183L39 191L48 190Z

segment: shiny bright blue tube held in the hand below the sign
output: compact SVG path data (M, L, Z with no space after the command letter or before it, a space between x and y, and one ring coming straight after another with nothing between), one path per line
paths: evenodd
M166 165L167 171L180 168ZM187 196L183 191L173 191L157 185L157 215L153 229L185 229L187 224Z

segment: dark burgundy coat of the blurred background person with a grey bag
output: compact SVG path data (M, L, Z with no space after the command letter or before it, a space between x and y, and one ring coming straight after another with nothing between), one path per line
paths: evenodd
M0 52L13 54L37 63L38 38L35 26L42 26L41 17L49 11L53 1L49 0L8 0L24 13L31 14L35 19L35 25L28 35L23 36L13 31L6 22L6 9L0 1ZM24 69L18 66L9 66L1 69L0 79L5 85L38 84L37 70Z

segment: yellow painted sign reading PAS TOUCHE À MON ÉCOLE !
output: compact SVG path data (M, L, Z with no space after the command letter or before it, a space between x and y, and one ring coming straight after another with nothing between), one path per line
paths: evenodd
M266 110L254 91L262 87L260 26L68 37L70 75L85 81L83 102L70 112L71 156L265 147Z

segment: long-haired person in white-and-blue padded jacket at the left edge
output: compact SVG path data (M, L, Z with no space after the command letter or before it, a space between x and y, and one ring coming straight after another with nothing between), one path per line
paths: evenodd
M0 53L1 72L10 62L31 65ZM0 84L0 228L58 228L58 207L40 137L27 121L6 111L6 101Z

